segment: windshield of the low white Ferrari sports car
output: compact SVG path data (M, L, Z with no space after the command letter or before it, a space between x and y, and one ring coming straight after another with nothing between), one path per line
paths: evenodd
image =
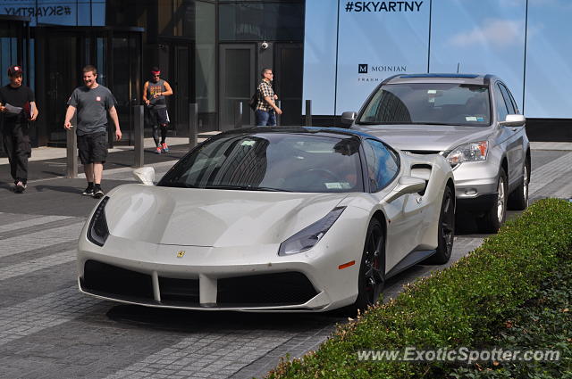
M353 136L241 133L214 137L181 159L158 185L287 192L362 192Z

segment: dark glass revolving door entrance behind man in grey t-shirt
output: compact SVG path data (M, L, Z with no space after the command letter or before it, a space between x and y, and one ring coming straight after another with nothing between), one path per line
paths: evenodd
M65 146L63 119L75 87L83 84L81 69L97 67L97 82L108 87L117 101L116 110L123 144L133 144L132 106L141 96L142 29L38 27L35 28L38 106L46 144ZM109 122L109 145L115 144L114 125Z

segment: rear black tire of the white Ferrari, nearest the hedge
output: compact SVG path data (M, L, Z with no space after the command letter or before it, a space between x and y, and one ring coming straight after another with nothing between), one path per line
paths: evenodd
M455 239L455 195L448 185L443 193L437 238L437 251L426 262L442 265L450 260Z

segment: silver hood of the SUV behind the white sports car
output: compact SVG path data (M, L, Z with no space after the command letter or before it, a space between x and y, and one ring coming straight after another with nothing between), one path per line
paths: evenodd
M459 144L482 141L491 135L490 127L447 125L356 125L352 128L381 138L400 150L443 152Z

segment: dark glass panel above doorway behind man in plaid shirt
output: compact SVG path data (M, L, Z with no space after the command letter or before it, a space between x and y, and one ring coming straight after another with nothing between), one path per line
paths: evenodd
M301 41L304 4L219 4L219 25L221 41Z

